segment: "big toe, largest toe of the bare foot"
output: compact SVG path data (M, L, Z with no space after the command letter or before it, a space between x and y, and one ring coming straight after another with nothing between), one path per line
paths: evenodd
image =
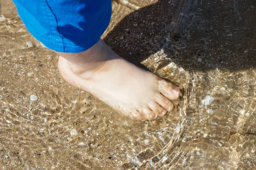
M165 80L161 79L158 82L158 85L160 93L169 100L176 100L181 95L180 89L170 82L166 82Z

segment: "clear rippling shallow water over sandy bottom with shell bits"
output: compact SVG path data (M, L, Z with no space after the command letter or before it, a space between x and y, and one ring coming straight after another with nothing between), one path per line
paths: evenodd
M113 1L105 42L183 92L174 111L145 122L68 85L58 56L12 2L0 5L1 169L256 168L252 0Z

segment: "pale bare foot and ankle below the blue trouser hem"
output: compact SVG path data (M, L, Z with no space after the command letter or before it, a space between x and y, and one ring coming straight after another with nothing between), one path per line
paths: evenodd
M58 69L70 84L90 92L119 113L152 120L174 108L179 88L119 57L102 40L77 54L58 53Z

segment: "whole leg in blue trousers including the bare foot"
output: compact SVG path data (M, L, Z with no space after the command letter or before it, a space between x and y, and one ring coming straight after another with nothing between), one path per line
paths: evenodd
M178 98L179 88L122 59L100 40L111 0L38 1L14 0L28 30L60 55L58 68L67 82L133 119L151 120L173 109L170 100Z

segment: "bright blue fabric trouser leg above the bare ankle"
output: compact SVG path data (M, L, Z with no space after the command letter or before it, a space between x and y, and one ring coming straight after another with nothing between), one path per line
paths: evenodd
M67 53L96 44L111 18L111 0L13 0L28 31L48 48Z

